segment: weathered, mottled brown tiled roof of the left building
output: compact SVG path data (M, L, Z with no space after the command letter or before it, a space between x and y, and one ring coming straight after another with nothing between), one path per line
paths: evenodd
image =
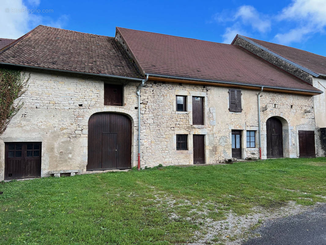
M39 25L0 53L0 62L93 74L141 77L113 37Z

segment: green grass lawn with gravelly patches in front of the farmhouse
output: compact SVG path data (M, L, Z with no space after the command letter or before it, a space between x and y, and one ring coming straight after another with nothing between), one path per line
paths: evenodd
M326 202L325 178L326 158L285 158L1 182L0 244L186 243L198 216Z

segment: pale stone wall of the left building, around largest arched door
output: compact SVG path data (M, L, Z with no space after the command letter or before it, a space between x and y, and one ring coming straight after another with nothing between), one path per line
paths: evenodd
M4 178L4 142L41 141L41 176L48 176L50 170L85 171L88 118L93 113L124 113L132 121L133 132L138 131L135 94L139 82L26 71L29 72L29 87L21 98L24 106L0 135L0 180ZM124 83L124 106L103 105L104 82ZM133 149L137 133L132 137ZM132 161L135 165L137 153Z

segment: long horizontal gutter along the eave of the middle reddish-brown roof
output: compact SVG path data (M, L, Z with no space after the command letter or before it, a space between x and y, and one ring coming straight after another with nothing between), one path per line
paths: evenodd
M228 82L228 81L219 81L219 80L209 80L209 79L200 79L200 78L191 78L191 77L181 77L181 76L169 76L169 75L159 75L159 74L150 74L147 75L151 77L160 77L160 78L168 78L168 79L179 79L179 80L191 80L197 82L208 82L208 83L217 83L217 84L230 84L230 85L238 85L238 86L247 86L247 87L256 87L261 88L262 85L250 84L250 83L240 83L240 82ZM308 93L323 93L323 91L316 90L305 90L305 89L293 89L293 88L284 88L277 86L264 86L265 89L278 89L278 90L291 90L291 91L299 91L299 92L308 92Z

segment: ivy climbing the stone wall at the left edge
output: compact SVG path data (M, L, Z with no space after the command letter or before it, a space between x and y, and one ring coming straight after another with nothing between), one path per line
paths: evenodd
M21 100L16 101L27 90L30 74L26 78L17 70L0 69L0 134L10 120L22 108Z

